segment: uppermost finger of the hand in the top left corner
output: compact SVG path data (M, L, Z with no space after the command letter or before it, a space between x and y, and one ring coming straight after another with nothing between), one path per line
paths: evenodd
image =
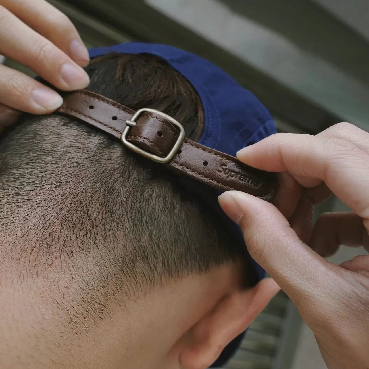
M86 66L89 63L89 53L79 33L60 10L44 0L1 0L1 4L77 64Z

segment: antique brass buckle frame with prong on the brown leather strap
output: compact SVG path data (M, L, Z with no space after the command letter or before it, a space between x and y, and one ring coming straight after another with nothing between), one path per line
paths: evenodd
M139 118L139 116L144 113L145 111L148 111L150 113L155 113L158 115L161 115L163 118L165 118L166 120L168 120L170 123L172 123L176 128L179 129L179 136L177 138L176 143L174 144L172 150L170 150L169 154L167 156L165 156L165 158L161 158L158 155L154 155L151 154L151 152L147 152L145 150L140 149L139 147L137 147L136 145L132 144L131 142L127 141L127 134L130 131L131 127L134 127L136 125L137 119ZM149 109L149 108L144 108L144 109L140 109L137 110L136 113L132 116L132 118L130 120L125 121L126 127L124 128L120 139L122 141L122 144L127 146L128 148L130 148L132 151L137 152L137 154L140 154L142 156L145 156L145 158L154 160L158 163L169 163L174 156L177 154L177 151L179 150L179 148L182 145L182 142L184 140L184 128L182 127L182 124L180 124L179 122L177 122L175 119L173 119L172 117L170 117L167 114L162 113L161 111L155 110L155 109Z

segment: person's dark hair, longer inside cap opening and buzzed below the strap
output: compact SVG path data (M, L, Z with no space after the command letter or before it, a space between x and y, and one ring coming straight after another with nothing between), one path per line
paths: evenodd
M199 138L201 101L163 59L110 54L86 70L89 90L133 110L161 110L182 123L187 137ZM216 195L83 122L24 117L0 142L0 273L15 268L14 277L46 280L76 332L88 318L107 314L119 296L134 299L240 258L245 283L254 284L244 245L209 207Z

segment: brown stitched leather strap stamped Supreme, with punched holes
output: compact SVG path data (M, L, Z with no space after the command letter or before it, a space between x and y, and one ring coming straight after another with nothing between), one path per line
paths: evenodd
M64 98L59 113L79 118L94 127L121 138L126 121L134 111L99 94L82 90ZM161 114L142 113L130 128L127 141L161 158L169 154L179 137L179 131ZM233 156L215 151L184 138L168 169L193 177L220 190L239 190L264 200L276 191L276 177L272 173L251 168Z

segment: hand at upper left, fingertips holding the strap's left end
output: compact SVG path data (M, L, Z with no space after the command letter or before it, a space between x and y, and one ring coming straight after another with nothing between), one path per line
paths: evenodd
M32 69L60 90L85 88L89 63L72 22L45 0L0 0L0 55ZM49 114L63 100L54 90L0 65L0 129L18 112Z

